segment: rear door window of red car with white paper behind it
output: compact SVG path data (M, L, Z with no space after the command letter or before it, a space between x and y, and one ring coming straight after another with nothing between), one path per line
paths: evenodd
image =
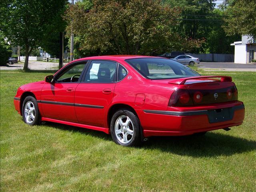
M85 76L85 82L111 83L116 82L116 62L92 61Z

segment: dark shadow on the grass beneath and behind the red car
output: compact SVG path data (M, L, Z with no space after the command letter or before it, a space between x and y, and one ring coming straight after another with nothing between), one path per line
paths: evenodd
M112 140L110 135L100 131L52 122L47 122L46 125L61 130L79 132L81 134L90 135L104 140ZM237 153L256 150L256 142L217 132L207 132L205 136L191 135L152 137L138 148L145 150L160 150L161 152L168 152L182 156L212 157L231 156Z

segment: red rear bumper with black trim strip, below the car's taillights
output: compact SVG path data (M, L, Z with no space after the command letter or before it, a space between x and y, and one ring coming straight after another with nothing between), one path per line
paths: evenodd
M245 109L242 102L240 105L226 108L230 116L224 114L224 117L222 117L222 112L220 114L216 112L215 114L213 111L214 109L186 112L139 110L137 113L144 137L190 135L197 132L239 126L244 120Z

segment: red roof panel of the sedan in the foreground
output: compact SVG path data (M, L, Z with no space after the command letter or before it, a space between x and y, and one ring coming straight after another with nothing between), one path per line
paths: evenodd
M104 56L93 56L93 57L85 57L80 58L74 61L80 60L126 60L126 59L135 59L135 58L161 58L154 56L143 56L143 55L104 55Z

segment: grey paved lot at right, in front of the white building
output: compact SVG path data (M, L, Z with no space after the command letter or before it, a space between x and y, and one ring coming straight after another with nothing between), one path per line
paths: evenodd
M256 64L234 64L233 62L200 62L198 68L204 70L254 71Z

